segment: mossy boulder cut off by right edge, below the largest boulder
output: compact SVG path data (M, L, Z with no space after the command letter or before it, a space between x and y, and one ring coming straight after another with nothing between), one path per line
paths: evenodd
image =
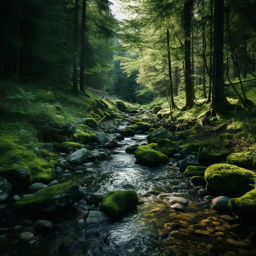
M255 223L256 188L240 198L231 199L228 203L228 207L240 219Z

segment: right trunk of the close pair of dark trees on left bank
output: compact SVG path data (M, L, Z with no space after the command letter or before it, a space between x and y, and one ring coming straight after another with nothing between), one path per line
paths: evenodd
M85 28L86 28L86 0L83 0L82 27L81 27L81 56L80 56L80 91L81 92L84 92Z

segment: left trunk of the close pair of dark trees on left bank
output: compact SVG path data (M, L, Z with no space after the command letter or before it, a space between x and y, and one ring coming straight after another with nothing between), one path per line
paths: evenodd
M78 94L77 83L77 44L78 44L78 0L75 1L75 23L74 23L74 70L73 70L73 93Z

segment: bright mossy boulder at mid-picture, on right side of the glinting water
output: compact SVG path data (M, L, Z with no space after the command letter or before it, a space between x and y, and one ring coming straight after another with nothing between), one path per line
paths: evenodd
M168 156L150 148L149 146L139 146L135 151L135 157L139 164L144 166L155 166L167 164Z

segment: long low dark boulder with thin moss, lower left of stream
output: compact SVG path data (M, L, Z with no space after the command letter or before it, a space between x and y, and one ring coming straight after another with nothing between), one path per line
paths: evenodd
M14 210L24 212L56 212L64 210L84 197L81 186L72 182L43 188L33 196L15 202Z

